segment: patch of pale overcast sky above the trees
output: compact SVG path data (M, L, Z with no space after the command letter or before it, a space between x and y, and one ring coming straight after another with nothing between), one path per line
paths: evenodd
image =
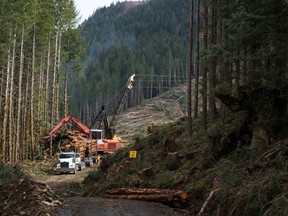
M96 9L123 1L126 0L74 0L79 16L81 16L80 23L91 16Z

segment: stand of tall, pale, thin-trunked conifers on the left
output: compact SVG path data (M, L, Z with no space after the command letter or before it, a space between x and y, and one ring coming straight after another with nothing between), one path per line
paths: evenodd
M34 160L39 139L68 113L68 73L80 67L70 0L0 1L0 156Z

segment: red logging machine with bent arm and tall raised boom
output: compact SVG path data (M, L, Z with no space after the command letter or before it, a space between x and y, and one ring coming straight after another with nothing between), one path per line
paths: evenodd
M96 154L113 152L116 149L118 149L120 147L119 140L113 139L115 135L115 131L116 131L115 126L116 126L116 122L119 117L119 114L121 113L125 105L128 93L132 89L133 83L135 82L134 77L135 77L135 74L129 77L126 83L125 89L123 91L123 94L121 95L120 100L118 101L117 109L114 115L112 116L110 123L108 122L107 114L105 112L105 106L103 105L101 110L97 114L96 118L93 120L90 127L86 126L85 124L83 124L81 121L79 121L75 117L68 116L66 118L63 118L61 121L59 121L58 124L49 132L49 134L43 137L40 141L45 141L48 138L55 137L57 131L59 131L62 126L67 124L73 129L79 131L80 133L87 135L87 137L90 140L97 141ZM93 129L93 126L97 121L99 122L99 125L97 129ZM104 124L104 139L103 139L103 134L102 134L103 130L101 129L102 122Z

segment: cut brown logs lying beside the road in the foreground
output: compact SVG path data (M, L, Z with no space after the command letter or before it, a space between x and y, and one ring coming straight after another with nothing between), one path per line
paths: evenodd
M181 207L188 201L188 193L186 191L156 188L115 188L106 191L103 197L161 202L176 207Z

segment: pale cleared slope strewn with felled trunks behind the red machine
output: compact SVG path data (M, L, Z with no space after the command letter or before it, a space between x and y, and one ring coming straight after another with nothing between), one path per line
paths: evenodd
M146 136L148 127L173 122L184 117L186 89L186 86L174 88L123 112L116 127L117 135L122 139L132 141L136 134Z

